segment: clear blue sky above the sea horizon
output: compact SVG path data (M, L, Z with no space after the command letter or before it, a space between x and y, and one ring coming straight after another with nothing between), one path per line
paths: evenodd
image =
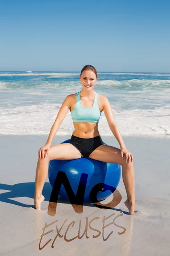
M169 0L0 1L0 71L170 72Z

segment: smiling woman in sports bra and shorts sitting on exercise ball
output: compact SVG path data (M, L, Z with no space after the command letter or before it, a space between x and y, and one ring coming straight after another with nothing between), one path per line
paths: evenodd
M38 151L39 159L34 193L35 209L40 210L40 205L44 200L42 189L48 175L50 160L89 157L103 162L118 163L122 166L122 177L127 193L125 205L129 214L133 214L135 209L133 156L125 147L107 97L94 91L94 84L97 81L96 69L91 65L83 67L80 81L82 82L82 90L66 97L46 144ZM74 123L71 140L69 143L51 146L52 139L69 110ZM121 149L103 144L98 131L98 122L102 111L104 111L109 127Z

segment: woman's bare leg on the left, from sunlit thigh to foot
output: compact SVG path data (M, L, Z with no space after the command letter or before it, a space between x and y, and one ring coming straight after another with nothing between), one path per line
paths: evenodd
M39 158L35 177L34 204L35 209L41 209L44 200L42 189L48 175L48 164L50 160L71 160L82 157L82 154L70 143L58 144L50 147L50 151L45 158Z

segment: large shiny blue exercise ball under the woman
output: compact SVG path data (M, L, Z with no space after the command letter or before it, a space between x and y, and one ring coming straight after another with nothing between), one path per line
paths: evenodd
M68 143L65 140L62 143ZM107 145L106 143L104 143ZM77 189L82 174L87 174L87 183L85 188L84 202L91 202L89 195L91 189L97 184L102 187L97 193L97 200L102 201L111 195L119 184L121 177L121 167L117 163L105 163L91 158L78 158L75 160L51 160L49 162L48 179L51 186L54 186L57 173L62 171L66 174L74 194L77 194ZM111 189L113 187L114 189ZM111 190L112 191L111 191ZM69 200L63 184L61 185L59 195Z

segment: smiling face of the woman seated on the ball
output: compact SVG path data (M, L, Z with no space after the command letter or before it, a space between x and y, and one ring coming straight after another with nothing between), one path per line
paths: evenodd
M84 70L82 76L80 76L82 82L82 88L85 90L92 90L96 83L96 75L92 70Z

